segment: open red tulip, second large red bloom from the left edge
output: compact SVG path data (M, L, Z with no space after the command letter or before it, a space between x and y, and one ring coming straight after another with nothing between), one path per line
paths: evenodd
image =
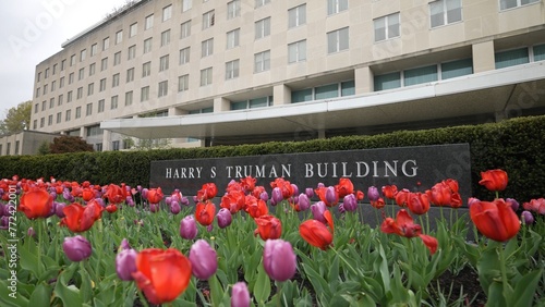
M66 225L72 232L84 232L90 229L102 214L102 207L97 201L90 200L87 206L74 202L62 209L64 218L61 225Z

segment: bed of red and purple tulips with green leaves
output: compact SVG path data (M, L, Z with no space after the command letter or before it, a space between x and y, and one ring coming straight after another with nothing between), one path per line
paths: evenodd
M481 184L497 197L468 199L467 224L453 180L364 193L349 179L300 191L245 177L219 196L205 184L187 199L124 184L4 179L0 304L545 304L545 199L499 198L500 170L483 172ZM379 226L361 222L365 206ZM435 229L431 206L441 210ZM455 282L462 278L468 286Z

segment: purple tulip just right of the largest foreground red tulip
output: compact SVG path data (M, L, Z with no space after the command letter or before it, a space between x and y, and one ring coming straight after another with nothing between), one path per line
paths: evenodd
M191 272L199 280L207 280L218 269L218 255L204 240L197 240L190 249Z

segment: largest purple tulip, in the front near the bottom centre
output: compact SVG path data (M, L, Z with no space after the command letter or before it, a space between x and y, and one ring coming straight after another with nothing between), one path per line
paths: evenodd
M296 259L291 243L281 238L267 240L263 249L263 268L275 281L283 282L293 278Z

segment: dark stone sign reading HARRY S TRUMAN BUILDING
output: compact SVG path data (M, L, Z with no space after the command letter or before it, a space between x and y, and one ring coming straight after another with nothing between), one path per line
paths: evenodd
M464 202L471 195L468 144L153 161L149 186L160 186L165 194L179 188L191 196L213 182L221 196L231 180L245 176L257 179L257 185L269 193L276 177L296 184L301 192L349 177L354 188L365 194L372 185L380 189L390 184L423 192L437 182L455 179Z

